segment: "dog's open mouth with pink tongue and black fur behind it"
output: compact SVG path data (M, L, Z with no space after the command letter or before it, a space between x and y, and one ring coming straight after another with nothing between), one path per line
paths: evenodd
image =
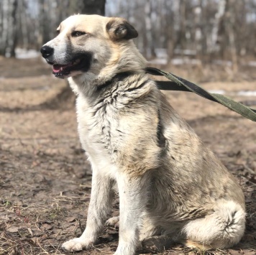
M81 73L87 72L91 65L91 54L83 54L82 57L76 57L65 65L55 62L48 63L52 65L52 73L55 77L64 79L71 76L73 71L81 71Z

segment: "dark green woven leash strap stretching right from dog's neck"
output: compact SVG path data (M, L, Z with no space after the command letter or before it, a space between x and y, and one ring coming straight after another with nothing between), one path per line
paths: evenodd
M191 83L188 80L180 78L172 73L165 73L157 68L146 68L146 72L150 75L162 75L168 78L170 81L156 80L157 86L160 90L165 91L188 91L196 93L198 96L209 99L216 103L221 103L232 111L239 113L251 121L256 121L256 109L244 106L242 103L238 103L226 96L217 93L209 93L204 88L199 87L195 83Z

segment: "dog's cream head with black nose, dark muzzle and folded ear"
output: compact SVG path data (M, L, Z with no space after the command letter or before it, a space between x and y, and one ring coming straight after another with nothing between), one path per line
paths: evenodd
M138 35L125 19L80 14L61 22L57 32L57 37L43 45L41 53L58 78L104 75L104 68L129 65L129 61L124 63L131 55L127 48L134 48L130 39Z

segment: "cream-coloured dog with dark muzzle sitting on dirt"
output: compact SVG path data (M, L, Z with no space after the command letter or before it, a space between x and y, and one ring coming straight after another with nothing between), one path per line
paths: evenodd
M78 133L92 166L83 234L67 251L96 243L119 193L119 245L133 255L152 241L202 249L237 244L245 226L241 187L170 106L134 46L127 20L77 14L65 19L42 57L76 93Z

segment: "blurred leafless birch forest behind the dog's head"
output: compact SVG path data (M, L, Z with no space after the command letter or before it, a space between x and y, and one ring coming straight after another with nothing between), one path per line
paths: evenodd
M75 13L128 19L139 32L142 54L163 65L180 56L203 64L228 61L236 71L256 55L255 0L1 0L0 55L38 51Z

